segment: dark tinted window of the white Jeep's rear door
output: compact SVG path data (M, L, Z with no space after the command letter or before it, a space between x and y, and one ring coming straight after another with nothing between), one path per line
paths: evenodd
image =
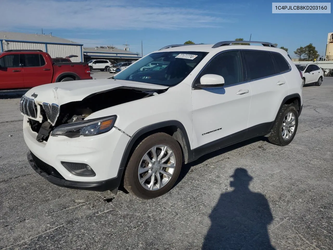
M269 52L244 51L247 63L247 80L254 80L275 74L274 64Z

